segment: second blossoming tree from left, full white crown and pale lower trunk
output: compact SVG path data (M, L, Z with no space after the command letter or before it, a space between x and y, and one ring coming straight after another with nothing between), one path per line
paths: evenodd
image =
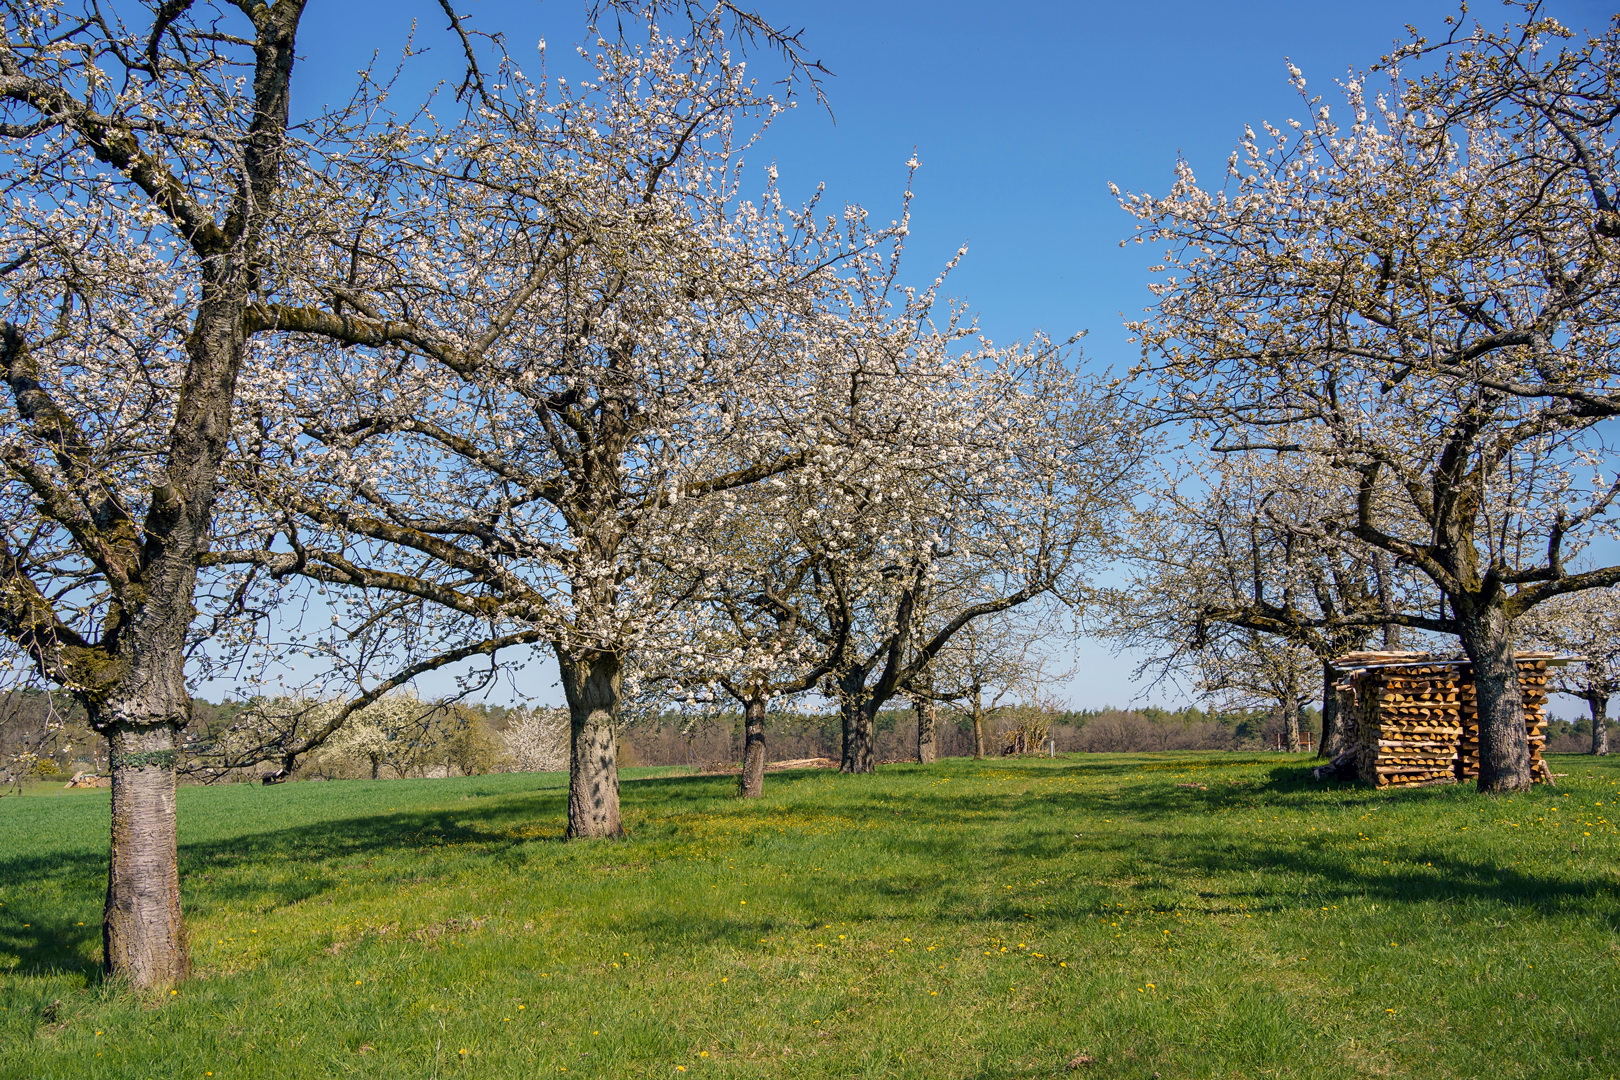
M211 555L339 586L332 654L394 664L353 709L426 667L549 648L570 837L622 831L625 661L679 648L672 612L723 542L708 515L860 452L826 418L867 334L842 275L904 235L792 209L774 178L744 198L740 154L781 105L723 45L598 40L572 89L509 65L465 123L408 136L421 170L353 175L339 209L374 254L332 257L371 300L340 317L387 343L288 361L240 479L249 520L280 528ZM284 767L343 719L280 746Z

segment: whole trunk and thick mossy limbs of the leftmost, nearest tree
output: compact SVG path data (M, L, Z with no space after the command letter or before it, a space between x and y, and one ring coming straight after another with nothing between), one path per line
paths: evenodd
M180 11L185 5L172 6ZM219 222L206 220L214 214L206 196L202 222L193 222L190 212L183 222L177 220L198 257L196 313L185 340L186 363L167 445L154 461L151 500L139 520L125 517L125 500L91 494L104 483L99 478L118 471L117 457L102 461L86 455L81 432L65 413L57 413L49 389L23 368L6 364L6 382L19 415L29 424L52 429L49 445L58 460L76 458L73 468L63 466L73 476L66 504L87 497L99 504L81 520L83 536L92 544L89 559L102 568L104 585L112 593L99 640L40 651L39 643L57 635L49 602L36 594L40 604L23 610L21 620L15 604L0 604L0 610L8 615L8 635L34 641L24 648L37 657L40 672L71 687L96 730L107 738L112 850L102 915L104 965L109 975L141 989L168 986L190 970L175 842L175 758L178 733L190 717L185 638L196 617L198 565L207 547L220 461L230 437L246 345L245 313L266 270L261 240L280 186L301 13L298 0L258 5L249 13L256 29L251 42L256 57L253 113L241 133L245 138L225 139L240 154L240 168L224 188L232 194L217 207ZM154 65L159 63L160 37L152 39ZM160 128L167 123L165 115L172 113L160 108L156 120L147 120ZM68 125L63 131L73 128L66 113L52 120L63 121ZM156 183L160 191L152 193L152 201L160 209L185 206L209 188L185 172L177 183L168 178L164 162L156 162L154 172L149 147L146 152L139 147L147 139L138 141L136 131L113 123L97 136L92 149L139 186L151 191L149 185ZM188 189L191 183L202 186ZM15 350L0 353L21 363ZM66 426L58 426L58 418L66 419ZM156 449L160 432L154 429L149 436ZM76 470L83 470L83 478L75 476ZM75 534L86 542L79 531ZM117 572L109 572L109 565ZM13 589L5 593L13 593L5 597L8 601L18 596Z

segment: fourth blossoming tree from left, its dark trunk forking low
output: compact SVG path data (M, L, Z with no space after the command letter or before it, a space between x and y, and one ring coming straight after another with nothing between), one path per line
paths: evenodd
M897 413L904 455L893 491L859 487L828 538L854 539L823 560L826 585L795 615L844 656L823 680L842 714L844 772L875 766L878 711L922 693L930 665L980 620L1082 599L1111 552L1144 442L1123 400L1076 372L1045 340L951 353L915 342L909 363L959 364L932 410ZM886 411L886 410L885 410ZM844 518L834 518L839 521Z

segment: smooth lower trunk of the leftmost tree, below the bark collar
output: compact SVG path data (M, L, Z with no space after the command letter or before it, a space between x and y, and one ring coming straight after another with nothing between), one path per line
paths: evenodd
M107 725L112 769L112 858L102 912L102 965L136 989L160 989L191 972L180 916L175 842L175 745L180 725Z

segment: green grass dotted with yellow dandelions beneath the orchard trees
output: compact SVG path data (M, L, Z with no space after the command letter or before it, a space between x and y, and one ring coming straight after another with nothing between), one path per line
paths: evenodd
M8 798L0 1075L1620 1075L1620 763L1309 764L632 771L593 844L554 774L183 789L159 1002L96 976L107 793Z

